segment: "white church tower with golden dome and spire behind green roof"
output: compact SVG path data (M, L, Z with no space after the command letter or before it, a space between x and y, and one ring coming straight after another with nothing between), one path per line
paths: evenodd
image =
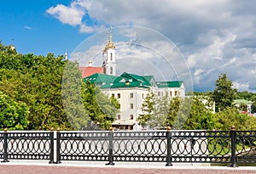
M104 73L106 75L116 76L116 59L115 59L115 47L112 42L111 29L109 31L109 40L103 51L103 65Z

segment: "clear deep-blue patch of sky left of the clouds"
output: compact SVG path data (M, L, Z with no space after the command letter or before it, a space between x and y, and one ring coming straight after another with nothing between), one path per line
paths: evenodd
M90 34L80 33L77 27L62 24L46 10L58 3L70 1L12 0L0 6L0 40L9 45L14 42L19 53L36 55L72 51ZM12 41L14 40L14 41Z

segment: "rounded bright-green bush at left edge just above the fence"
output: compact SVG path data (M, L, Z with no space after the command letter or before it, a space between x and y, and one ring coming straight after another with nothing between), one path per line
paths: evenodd
M0 129L24 130L28 126L28 108L24 103L17 103L8 95L0 93Z

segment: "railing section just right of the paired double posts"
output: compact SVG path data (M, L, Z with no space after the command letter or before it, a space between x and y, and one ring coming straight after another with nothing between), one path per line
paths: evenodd
M57 132L57 163L61 160L108 161L108 132Z

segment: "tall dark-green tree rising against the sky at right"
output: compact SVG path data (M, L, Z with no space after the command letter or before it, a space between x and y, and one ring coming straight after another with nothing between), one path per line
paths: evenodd
M232 88L232 81L227 74L223 73L218 76L215 86L212 99L215 101L216 111L231 107L236 98L237 89Z

